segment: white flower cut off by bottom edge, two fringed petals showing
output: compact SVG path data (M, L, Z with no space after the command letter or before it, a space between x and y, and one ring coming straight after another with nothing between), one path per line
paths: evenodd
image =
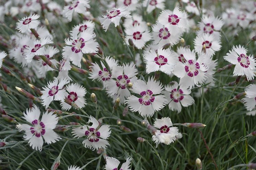
M120 168L120 170L131 170L130 169L130 164L131 164L132 158L127 158L126 162L124 162ZM120 161L117 160L116 158L113 157L106 157L106 165L105 168L106 170L117 170L118 165L120 164Z

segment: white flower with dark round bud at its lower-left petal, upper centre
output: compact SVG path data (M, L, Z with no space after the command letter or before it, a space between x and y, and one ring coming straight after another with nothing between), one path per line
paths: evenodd
M142 49L146 42L151 40L151 33L145 25L135 25L133 27L126 28L125 32L126 43L128 44L128 40L131 39L135 47L138 49Z

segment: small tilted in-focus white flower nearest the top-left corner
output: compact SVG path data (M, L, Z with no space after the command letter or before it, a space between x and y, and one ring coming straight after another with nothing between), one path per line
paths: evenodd
M16 23L16 29L19 30L19 32L24 33L30 29L36 28L40 22L38 21L38 18L40 15L37 14L30 14L27 17L23 17L19 22Z

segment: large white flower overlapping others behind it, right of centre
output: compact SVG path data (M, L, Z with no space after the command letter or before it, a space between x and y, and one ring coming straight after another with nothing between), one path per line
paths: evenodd
M191 89L195 84L200 86L199 84L202 84L207 78L205 71L208 70L208 67L202 63L202 57L198 57L196 60L194 50L187 49L183 56L187 62L178 62L173 69L173 74L181 78L179 85L185 89Z

